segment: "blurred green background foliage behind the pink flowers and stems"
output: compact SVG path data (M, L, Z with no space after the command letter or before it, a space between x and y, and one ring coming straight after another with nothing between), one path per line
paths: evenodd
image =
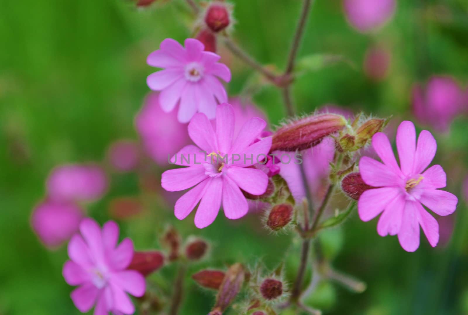
M301 1L233 2L233 37L263 64L282 69ZM410 91L416 81L450 74L468 82L465 0L399 0L393 19L372 35L348 25L341 1L315 2L299 57L343 55L351 66L337 63L301 76L293 88L299 112L335 103L354 112L394 115L398 124L412 118ZM137 138L133 117L148 92L146 76L154 71L146 56L166 37L182 42L191 36L193 19L182 0L146 10L123 0L1 0L0 7L0 315L80 314L69 298L72 287L61 275L66 246L47 251L31 231L30 213L43 198L44 180L55 165L101 161L112 141ZM378 83L362 71L365 51L373 43L385 43L392 53L388 77ZM235 95L253 72L222 47L219 53L232 69L228 92ZM276 88L263 88L254 100L271 124L284 117ZM466 122L461 117L450 134L438 136L437 162L446 169L447 189L460 197L450 241L432 249L422 236L419 250L407 253L396 237L377 235L375 220L364 223L353 215L329 232L325 243L336 256L336 268L368 288L353 294L324 284L312 305L326 314L468 314L468 217L461 195L467 173ZM100 222L110 219L107 205L113 197L139 195L135 174L114 174L111 180L105 198L87 207ZM146 215L119 222L122 234L132 237L137 249L154 248L170 222L183 236L211 240L212 260L192 266L189 274L237 261L262 261L274 268L286 251L295 251L289 248L291 236L270 235L255 216L228 222L219 215L198 230L193 215L180 222L160 198L144 198ZM154 281L173 272L166 267ZM189 278L185 287L182 314L206 314L214 294Z

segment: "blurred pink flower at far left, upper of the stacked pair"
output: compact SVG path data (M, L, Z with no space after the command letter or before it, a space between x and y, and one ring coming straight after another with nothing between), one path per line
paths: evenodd
M46 186L51 199L90 201L105 193L108 182L98 165L70 164L54 168Z

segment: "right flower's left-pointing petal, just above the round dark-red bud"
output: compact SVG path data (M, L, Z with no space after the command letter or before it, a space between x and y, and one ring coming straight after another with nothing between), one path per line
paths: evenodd
M401 182L401 179L393 169L370 157L361 157L359 172L361 172L364 182L374 187L396 187Z

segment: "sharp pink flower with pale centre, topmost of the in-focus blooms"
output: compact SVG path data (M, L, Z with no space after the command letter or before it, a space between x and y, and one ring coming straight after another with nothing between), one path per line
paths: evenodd
M161 91L159 102L164 112L172 111L180 100L179 122L189 122L196 112L213 119L216 105L227 101L226 90L215 76L229 82L231 72L217 62L217 54L204 50L203 43L194 38L185 40L185 48L166 38L160 49L148 56L149 65L164 70L150 74L146 82L152 90Z

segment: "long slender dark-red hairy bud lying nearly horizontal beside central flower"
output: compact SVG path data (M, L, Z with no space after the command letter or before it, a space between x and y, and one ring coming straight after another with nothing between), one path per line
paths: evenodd
M343 129L346 119L337 114L312 115L288 123L273 134L270 151L306 150Z

